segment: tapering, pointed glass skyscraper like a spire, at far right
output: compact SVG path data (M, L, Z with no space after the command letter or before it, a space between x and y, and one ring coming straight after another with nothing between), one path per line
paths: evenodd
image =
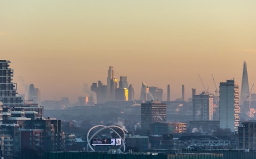
M243 105L244 101L248 101L249 98L250 98L250 92L249 92L249 84L248 84L247 64L246 64L246 61L244 61L240 104Z

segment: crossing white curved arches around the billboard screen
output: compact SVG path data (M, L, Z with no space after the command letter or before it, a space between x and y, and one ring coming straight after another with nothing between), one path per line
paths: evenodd
M98 128L98 127L103 127L103 128L101 128L100 130L97 130L97 131L93 134L93 136L90 137L90 139L89 139L89 134L90 134L90 132L91 132L93 129ZM124 138L121 137L120 134L119 134L118 132L116 132L116 130L112 129L112 127L118 128L118 129L122 130L123 135L124 135ZM123 145L121 145L119 148L121 149L121 148L124 146L124 151L125 151L125 144L124 144L124 141L125 141L125 132L124 132L124 130L123 130L121 127L116 126L116 125L110 125L110 126L96 125L96 126L93 126L93 127L88 131L87 137L86 137L86 138L87 138L87 151L89 151L89 147L90 147L90 149L91 149L93 152L95 151L95 150L93 149L92 145L91 145L91 140L93 139L93 137L94 137L95 135L97 135L99 132L101 132L102 130L105 130L105 129L110 129L110 130L114 131L114 132L116 133L116 135L121 138L121 141L122 141Z

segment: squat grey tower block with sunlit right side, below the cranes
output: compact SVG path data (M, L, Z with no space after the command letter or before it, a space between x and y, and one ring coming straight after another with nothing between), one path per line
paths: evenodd
M193 95L193 120L213 120L213 95Z

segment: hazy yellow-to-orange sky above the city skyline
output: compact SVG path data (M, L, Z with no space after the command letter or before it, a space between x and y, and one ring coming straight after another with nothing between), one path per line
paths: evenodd
M141 83L171 85L171 100L235 78L243 60L256 82L256 0L1 0L0 59L10 60L18 93L34 83L42 100L85 95L106 84L109 65ZM218 84L217 84L218 85ZM252 92L256 93L256 90Z

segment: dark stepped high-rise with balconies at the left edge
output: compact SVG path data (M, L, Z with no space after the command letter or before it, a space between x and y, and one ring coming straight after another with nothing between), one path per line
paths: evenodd
M13 69L9 66L8 60L0 60L0 101L3 106L22 106L23 98L17 97L17 84L13 83Z

